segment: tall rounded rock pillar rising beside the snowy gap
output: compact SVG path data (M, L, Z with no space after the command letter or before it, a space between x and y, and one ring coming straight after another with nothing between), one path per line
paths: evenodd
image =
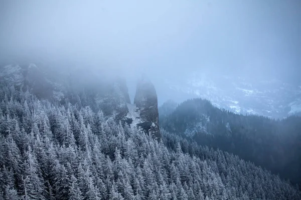
M153 83L145 77L137 83L134 104L140 112L140 120L142 121L137 126L154 138L161 138L156 89Z

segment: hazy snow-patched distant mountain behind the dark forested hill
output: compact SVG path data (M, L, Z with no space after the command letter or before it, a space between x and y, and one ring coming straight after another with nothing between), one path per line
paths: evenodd
M172 99L206 98L235 113L283 118L301 112L301 85L281 80L194 73L166 85Z

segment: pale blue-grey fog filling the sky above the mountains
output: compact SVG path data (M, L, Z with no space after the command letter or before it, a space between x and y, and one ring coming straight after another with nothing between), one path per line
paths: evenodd
M157 88L195 71L286 81L301 74L300 0L0 3L2 60L107 69L127 77L130 91L142 72Z

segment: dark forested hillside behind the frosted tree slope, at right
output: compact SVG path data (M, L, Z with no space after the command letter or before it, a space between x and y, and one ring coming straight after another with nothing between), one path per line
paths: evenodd
M161 127L196 142L239 155L301 182L301 117L273 120L221 110L210 101L191 99L160 120Z

